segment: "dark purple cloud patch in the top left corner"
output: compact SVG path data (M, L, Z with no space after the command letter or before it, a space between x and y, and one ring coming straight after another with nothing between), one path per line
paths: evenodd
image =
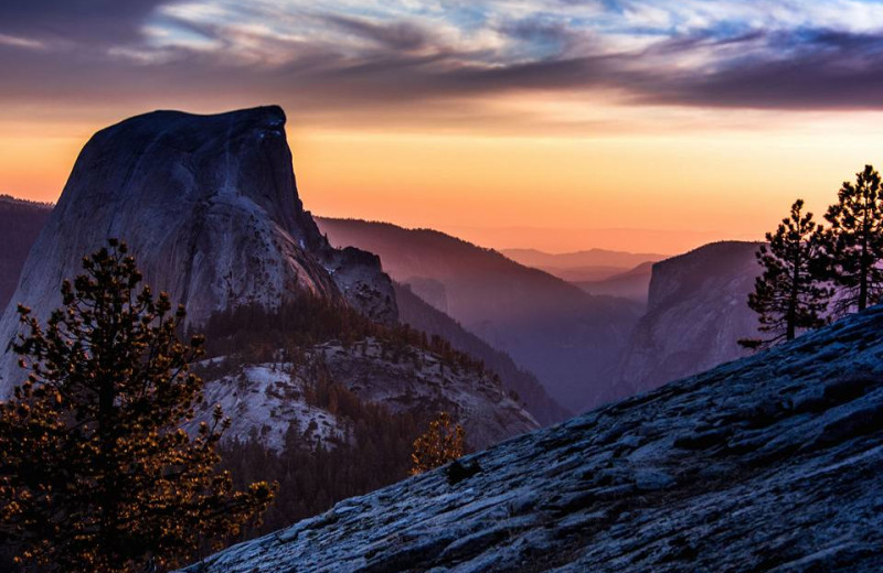
M4 0L0 33L88 44L128 43L150 13L170 0Z

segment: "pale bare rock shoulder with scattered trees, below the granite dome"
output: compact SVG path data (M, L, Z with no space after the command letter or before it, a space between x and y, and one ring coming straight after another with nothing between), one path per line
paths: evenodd
M304 389L311 380L307 365L320 364L334 380L365 402L394 413L433 419L448 412L466 430L469 446L487 447L536 430L539 424L506 394L488 372L454 369L429 352L407 347L398 356L376 339L352 347L329 342L311 348L300 364L244 364L222 377L206 377L205 401L221 404L232 425L227 440L246 440L253 432L263 445L281 451L289 426L298 433L316 422L316 435L344 439L347 422L333 412L309 406ZM193 422L211 419L211 408Z

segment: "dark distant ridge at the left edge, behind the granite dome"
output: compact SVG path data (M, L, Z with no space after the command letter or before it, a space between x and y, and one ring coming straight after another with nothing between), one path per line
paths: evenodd
M52 205L0 195L0 314L6 309Z

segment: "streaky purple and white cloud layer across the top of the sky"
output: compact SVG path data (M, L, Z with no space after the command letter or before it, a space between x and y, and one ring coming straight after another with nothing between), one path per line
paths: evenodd
M227 89L316 110L465 109L530 90L881 109L883 3L34 0L0 7L0 98L87 98L113 82L120 96Z

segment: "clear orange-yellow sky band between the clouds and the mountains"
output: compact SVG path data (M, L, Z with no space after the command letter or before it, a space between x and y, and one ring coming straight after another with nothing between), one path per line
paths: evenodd
M673 113L682 126L687 111ZM550 251L675 253L711 240L760 239L794 198L821 215L843 180L883 159L873 156L879 113L755 116L753 129L727 125L745 119L731 111L712 126L704 118L701 128L645 132L632 117L631 127L595 137L298 128L292 118L288 136L301 198L315 214ZM56 201L99 127L8 126L0 193Z

